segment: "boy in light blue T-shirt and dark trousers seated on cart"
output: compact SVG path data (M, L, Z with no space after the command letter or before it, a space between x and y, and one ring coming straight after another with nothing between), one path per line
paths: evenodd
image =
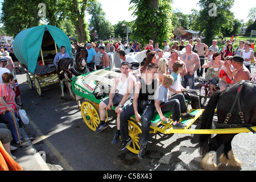
M179 122L180 115L181 119L195 118L195 115L187 113L187 105L182 93L168 97L168 88L172 85L173 81L174 78L171 75L164 76L163 84L155 91L155 107L163 122L166 122L166 117L164 117L163 113L172 110L172 121L174 121L173 128L183 129L187 125Z

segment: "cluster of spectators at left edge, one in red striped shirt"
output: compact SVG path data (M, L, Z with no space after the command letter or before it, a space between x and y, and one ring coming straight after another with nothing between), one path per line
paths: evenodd
M22 143L22 136L19 131L18 119L16 113L23 107L20 98L20 90L16 74L20 72L19 61L16 59L13 48L6 46L1 48L0 55L0 140L6 152L11 158L16 159L11 155L11 151L17 147L11 146L11 141L19 144ZM15 123L14 123L15 119ZM15 127L15 124L17 127ZM9 126L9 127L7 127ZM18 132L17 132L18 131ZM18 136L19 135L19 136ZM20 139L20 140L19 140Z

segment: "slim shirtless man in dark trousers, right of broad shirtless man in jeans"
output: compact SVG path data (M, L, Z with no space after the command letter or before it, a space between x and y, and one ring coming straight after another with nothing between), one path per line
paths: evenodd
M199 58L200 58L200 67L201 67L201 70L200 68L197 69L197 77L203 77L203 73L204 73L204 68L202 68L202 65L204 65L204 60L205 60L205 57L204 57L204 52L207 52L208 50L208 46L207 44L204 44L204 43L201 43L201 39L196 39L196 45L195 45L195 48L197 50L197 55L199 55ZM205 51L204 51L204 48L205 48Z

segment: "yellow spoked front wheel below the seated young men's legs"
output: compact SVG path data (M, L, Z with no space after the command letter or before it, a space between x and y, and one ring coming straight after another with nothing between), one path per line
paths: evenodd
M126 147L134 154L139 154L139 136L141 135L141 126L136 121L128 121L129 136L132 142Z

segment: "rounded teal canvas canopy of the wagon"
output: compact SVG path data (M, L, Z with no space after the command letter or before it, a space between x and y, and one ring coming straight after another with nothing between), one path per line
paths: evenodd
M13 51L20 63L27 65L28 71L34 73L40 48L55 49L55 43L59 49L65 46L65 52L71 57L72 49L68 36L60 28L51 25L27 28L19 32L13 42Z

